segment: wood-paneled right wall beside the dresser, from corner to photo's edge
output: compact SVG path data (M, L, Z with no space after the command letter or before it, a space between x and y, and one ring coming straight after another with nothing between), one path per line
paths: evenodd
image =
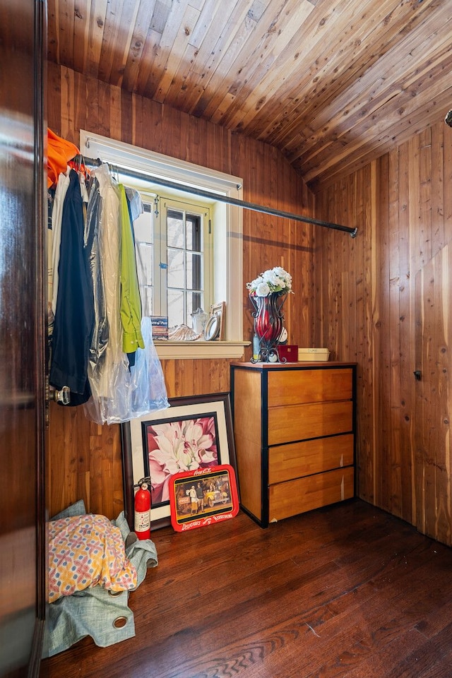
M452 130L316 196L316 345L358 363L359 496L451 545ZM413 372L420 370L420 381Z

